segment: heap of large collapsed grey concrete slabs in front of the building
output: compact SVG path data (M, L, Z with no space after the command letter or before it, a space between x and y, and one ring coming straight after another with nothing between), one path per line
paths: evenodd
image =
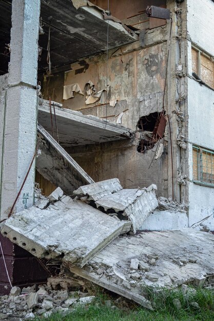
M123 189L117 178L82 186L73 198L57 188L49 197L38 194L35 206L8 218L1 233L40 259L59 260L69 277L153 309L145 286L208 284L214 274L211 233L139 231L160 208L155 189Z

